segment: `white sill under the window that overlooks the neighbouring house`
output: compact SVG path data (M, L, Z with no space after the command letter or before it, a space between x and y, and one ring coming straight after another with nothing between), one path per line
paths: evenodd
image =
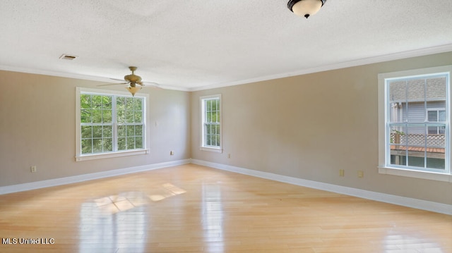
M403 177L422 178L422 179L427 179L427 180L436 180L436 181L452 183L452 175L448 174L448 173L415 171L415 170L409 170L409 169L405 169L405 168L391 168L391 167L384 167L384 166L379 166L379 173L386 174L386 175L400 175Z

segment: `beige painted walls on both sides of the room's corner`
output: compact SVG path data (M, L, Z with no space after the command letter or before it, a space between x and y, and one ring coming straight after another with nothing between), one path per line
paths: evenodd
M376 168L378 73L451 64L452 52L199 92L150 89L151 154L78 162L76 87L100 83L0 71L0 187L192 157L452 204L452 183ZM199 97L218 93L224 152L201 152Z

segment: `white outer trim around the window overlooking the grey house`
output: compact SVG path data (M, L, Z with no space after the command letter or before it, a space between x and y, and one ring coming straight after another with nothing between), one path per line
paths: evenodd
M403 77L412 77L416 75L429 75L432 73L448 73L449 75L449 82L451 82L451 75L452 75L452 66L439 66L439 67L433 67L433 68L422 68L422 69L415 69L415 70L405 70L405 71L398 71L398 72L391 72L391 73L380 73L378 75L379 85L378 85L378 115L379 115L379 173L380 174L388 174L388 175L400 175L410 178L422 178L422 179L428 179L428 180L438 180L438 181L444 181L444 182L450 182L452 183L452 174L451 174L451 148L446 147L446 150L448 150L448 153L445 154L448 160L448 163L446 163L446 172L445 173L438 173L438 172L432 172L432 171L417 171L417 170L410 170L407 168L396 168L389 166L388 163L386 163L386 111L387 111L387 103L386 103L386 94L385 94L385 79L387 78L403 78ZM451 86L451 84L449 85ZM452 120L451 118L451 105L450 100L451 97L451 87L446 87L446 92L448 93L448 100L446 103L446 108L448 108L448 121L450 122ZM446 131L448 136L449 134L450 126L446 126ZM449 142L450 145L450 142Z

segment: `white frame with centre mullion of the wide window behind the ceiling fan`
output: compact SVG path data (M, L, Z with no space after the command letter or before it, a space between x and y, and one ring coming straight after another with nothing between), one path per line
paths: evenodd
M92 89L85 87L76 87L76 161L87 161L93 159L107 159L113 157L120 156L132 156L138 154L149 154L148 149L148 130L146 125L147 118L147 104L149 101L149 94L135 94L135 97L143 97L143 149L130 149L130 150L121 150L116 152L105 152L105 153L96 153L96 154L82 154L81 151L81 94L89 93L89 94L98 94L98 95L109 95L109 96L120 96L120 97L133 97L129 92L121 92L114 90L100 90L100 89ZM115 107L115 106L112 106ZM112 109L112 114L115 111ZM116 116L112 115L112 118L116 118ZM117 122L112 122L113 124L113 142L115 139L117 140L117 129L114 125L119 125Z

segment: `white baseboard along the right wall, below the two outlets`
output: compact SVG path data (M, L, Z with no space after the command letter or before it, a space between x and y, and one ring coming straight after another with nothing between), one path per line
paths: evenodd
M191 159L191 163L208 166L211 168L218 168L224 171L231 171L235 173L241 173L245 175L252 175L258 178L266 178L283 183L290 183L292 185L299 185L304 187L310 187L318 190L326 190L328 192L336 192L343 195L350 195L354 197L361 197L363 199L371 199L379 202L385 202L390 204L397 204L399 206L408 206L415 209L422 209L426 211L434 211L440 214L452 215L452 205L442 204L437 202L429 202L422 199L413 199L409 197L400 197L397 195L388 195L380 192L371 192L368 190L360 190L352 187L345 187L340 185L331 185L328 183L320 183L311 180L304 180L301 178L292 178L285 175L278 175L263 171L254 171L248 168L240 168L235 166L229 166L221 163L212 163L209 161L202 161L197 159Z

